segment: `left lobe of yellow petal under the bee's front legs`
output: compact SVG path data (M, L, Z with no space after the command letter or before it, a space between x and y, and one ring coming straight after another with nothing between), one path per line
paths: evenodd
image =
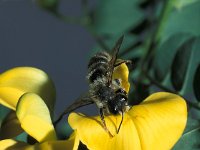
M77 131L78 137L89 149L94 150L140 150L140 141L133 121L128 115L119 134L116 130L120 124L121 116L108 116L105 121L109 131L114 135L111 138L103 129L99 117L86 117L83 114L71 113L68 118L71 127Z

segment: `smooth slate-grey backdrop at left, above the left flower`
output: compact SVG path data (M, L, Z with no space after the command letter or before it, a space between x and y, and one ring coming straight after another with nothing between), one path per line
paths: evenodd
M81 1L61 3L63 13L81 14ZM55 116L87 91L87 62L95 41L82 26L62 22L38 7L36 1L1 0L0 43L0 72L33 66L53 79L57 90Z

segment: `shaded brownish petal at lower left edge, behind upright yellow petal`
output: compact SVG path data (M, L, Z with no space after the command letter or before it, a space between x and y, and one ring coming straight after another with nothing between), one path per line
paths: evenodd
M1 125L0 139L14 138L22 132L24 132L24 130L21 128L16 112L10 112Z

